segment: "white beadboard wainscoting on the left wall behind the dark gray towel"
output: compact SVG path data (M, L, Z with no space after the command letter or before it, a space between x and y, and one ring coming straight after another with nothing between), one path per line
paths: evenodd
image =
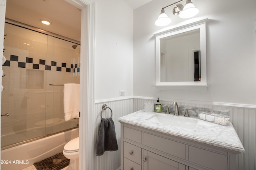
M118 143L118 150L114 152L104 152L102 156L96 156L96 142L98 137L98 131L100 128L100 112L102 110L102 105L106 104L113 111L112 119L115 124L116 129L116 139ZM128 115L133 112L133 98L127 99L116 99L116 100L104 100L104 101L95 101L95 109L94 109L94 170L118 170L120 169L120 123L117 121L118 117L122 117L124 115ZM106 109L102 112L103 118L108 118L111 115L110 109Z

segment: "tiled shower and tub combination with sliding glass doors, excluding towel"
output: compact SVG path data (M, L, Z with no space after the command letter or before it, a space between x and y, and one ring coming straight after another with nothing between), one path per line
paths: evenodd
M79 119L64 121L64 86L50 84L80 83L80 42L8 19L4 30L1 166L20 170L78 137Z

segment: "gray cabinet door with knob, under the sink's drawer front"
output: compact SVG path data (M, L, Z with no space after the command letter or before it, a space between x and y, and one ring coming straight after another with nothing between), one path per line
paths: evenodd
M143 170L186 170L184 164L143 150Z

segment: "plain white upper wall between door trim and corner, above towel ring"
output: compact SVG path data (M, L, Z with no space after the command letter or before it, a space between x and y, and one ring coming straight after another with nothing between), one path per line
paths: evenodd
M122 0L95 2L95 100L132 96L133 10Z

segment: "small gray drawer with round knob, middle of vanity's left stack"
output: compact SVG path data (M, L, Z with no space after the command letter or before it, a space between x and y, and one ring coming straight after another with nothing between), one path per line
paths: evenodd
M124 157L141 164L141 148L124 142Z

